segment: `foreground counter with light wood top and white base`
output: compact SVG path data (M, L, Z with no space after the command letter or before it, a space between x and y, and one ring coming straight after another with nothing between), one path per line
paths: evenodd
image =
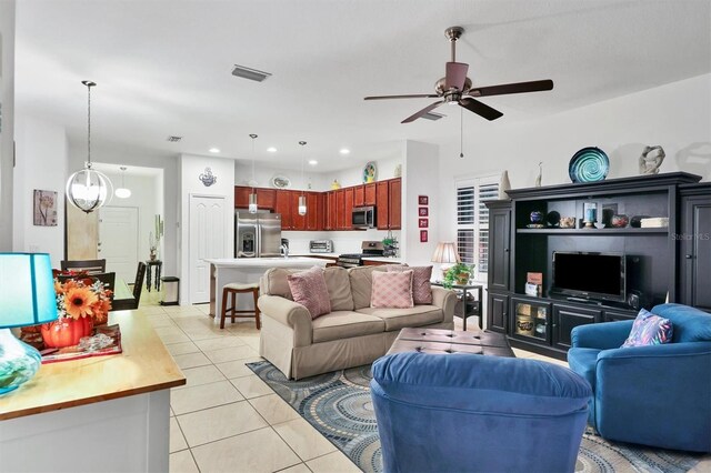
M170 388L186 378L144 314L111 312L109 323L123 353L42 364L2 396L3 471L168 471Z

